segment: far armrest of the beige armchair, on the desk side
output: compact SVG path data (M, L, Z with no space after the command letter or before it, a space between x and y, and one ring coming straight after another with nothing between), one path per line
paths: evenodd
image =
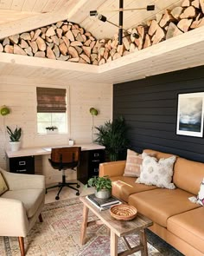
M40 188L45 189L45 176L36 174L14 174L1 169L10 190Z

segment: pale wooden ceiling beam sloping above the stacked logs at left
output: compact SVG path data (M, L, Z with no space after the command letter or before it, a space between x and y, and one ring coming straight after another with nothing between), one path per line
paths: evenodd
M39 13L38 15L23 18L18 21L2 23L0 24L0 39L35 30L66 19L72 21L72 16L74 16L77 10L81 9L87 1L88 0L69 0L61 10Z

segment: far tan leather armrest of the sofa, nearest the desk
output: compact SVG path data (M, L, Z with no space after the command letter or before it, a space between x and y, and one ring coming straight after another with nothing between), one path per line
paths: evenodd
M124 174L126 161L110 161L99 164L99 176L108 175L109 177L121 176Z

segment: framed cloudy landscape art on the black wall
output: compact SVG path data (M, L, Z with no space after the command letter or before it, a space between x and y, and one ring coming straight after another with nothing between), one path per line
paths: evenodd
M204 92L178 95L176 135L202 137Z

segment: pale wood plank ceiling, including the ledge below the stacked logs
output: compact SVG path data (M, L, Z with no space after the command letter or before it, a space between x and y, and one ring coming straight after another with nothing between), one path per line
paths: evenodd
M165 9L172 9L181 1L124 0L124 9L155 4L156 10L124 12L124 29L155 17ZM112 38L118 29L89 16L98 10L112 23L118 23L118 0L0 0L0 38L34 30L68 19L79 23L97 38ZM61 62L30 56L0 54L0 76L23 76L29 79L55 79L87 82L126 82L149 75L186 69L204 64L204 28L189 31L163 43L151 46L102 66Z

